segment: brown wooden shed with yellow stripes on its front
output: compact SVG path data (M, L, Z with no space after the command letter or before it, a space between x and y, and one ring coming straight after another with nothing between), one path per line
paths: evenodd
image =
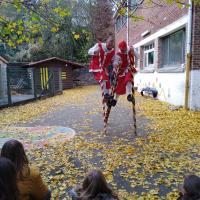
M73 87L73 70L83 65L57 57L31 62L24 67L32 68L35 97L54 96L63 89Z

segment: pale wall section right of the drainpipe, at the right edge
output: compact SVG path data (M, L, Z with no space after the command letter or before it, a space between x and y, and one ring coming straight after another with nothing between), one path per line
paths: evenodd
M200 70L192 70L190 74L189 107L192 110L200 110Z

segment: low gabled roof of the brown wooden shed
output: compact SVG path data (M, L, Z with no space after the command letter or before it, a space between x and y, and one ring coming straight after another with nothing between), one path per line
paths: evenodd
M39 60L36 62L30 62L27 65L24 65L24 67L36 67L40 64L49 63L49 62L58 62L58 63L62 63L63 66L72 66L74 68L85 68L84 65L81 65L81 64L78 64L78 63L75 63L72 61L64 60L61 58L57 58L57 57L47 58L47 59ZM48 66L46 66L46 67L48 67Z

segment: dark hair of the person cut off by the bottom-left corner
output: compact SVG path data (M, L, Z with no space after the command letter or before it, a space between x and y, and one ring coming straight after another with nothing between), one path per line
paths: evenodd
M0 157L0 199L16 200L18 197L17 172L14 164L7 158Z

